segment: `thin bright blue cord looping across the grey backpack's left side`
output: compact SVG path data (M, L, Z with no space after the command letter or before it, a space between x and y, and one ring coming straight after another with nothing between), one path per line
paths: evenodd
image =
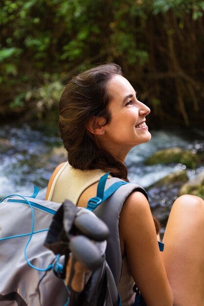
M27 243L26 243L26 245L25 245L25 248L24 248L24 257L25 257L26 262L28 263L28 265L29 265L31 268L33 268L33 269L35 269L35 270L37 270L37 271L48 271L48 270L50 270L50 269L53 267L53 264L49 264L45 269L37 268L37 267L35 267L31 262L29 262L29 260L28 260L28 258L27 258L27 254L26 254L28 244L29 244L30 240L32 239L33 234L34 234L34 233L38 233L38 232L43 232L43 231L45 231L45 230L47 230L47 229L41 230L41 231L37 231L37 232L34 232L34 225L35 225L34 210L33 210L33 208L32 208L32 205L30 204L30 202L29 202L25 197L20 196L20 195L16 195L16 194L9 195L9 196L7 196L7 197L21 197L21 198L23 198L23 199L26 201L26 203L30 206L30 209L31 209L31 212L32 212L32 228L31 228L31 233L27 233L27 234L23 234L23 235L16 235L16 236L10 236L10 237L6 237L6 238L2 238L2 239L0 239L0 240L6 240L6 239L10 239L10 238L17 238L17 237L23 237L23 236L28 236L28 235L30 235L30 238L28 239L28 241L27 241ZM7 197L2 198L2 200L0 201L0 203L1 203L4 199L6 199Z

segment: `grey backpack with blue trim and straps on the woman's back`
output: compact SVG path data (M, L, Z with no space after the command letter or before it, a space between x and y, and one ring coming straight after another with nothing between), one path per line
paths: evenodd
M138 190L146 196L140 186L118 178L107 180L107 176L108 174L102 176L97 197L90 199L87 208L108 225L111 235L107 238L106 251L104 247L99 247L102 242L96 242L104 260L101 261L100 268L92 272L90 281L85 286L83 305L120 305L116 289L122 268L122 258L118 256L119 215L125 199L132 191ZM70 292L63 281L68 254L62 252L61 247L64 244L67 247L68 243L61 239L64 229L61 217L62 236L57 236L57 243L49 240L53 216L57 216L56 211L59 212L60 208L62 211L62 204L36 199L37 192L35 188L31 197L11 195L0 203L0 306L71 306ZM77 215L80 209L75 209ZM61 252L58 252L59 248ZM62 267L60 272L59 266ZM96 280L97 284L94 283ZM92 302L89 294L92 295Z

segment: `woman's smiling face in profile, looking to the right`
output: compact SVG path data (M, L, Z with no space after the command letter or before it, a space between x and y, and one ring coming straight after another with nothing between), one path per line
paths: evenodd
M103 126L103 134L98 140L108 151L124 160L130 149L151 139L145 123L150 109L137 100L132 85L120 75L113 76L108 90L111 121Z

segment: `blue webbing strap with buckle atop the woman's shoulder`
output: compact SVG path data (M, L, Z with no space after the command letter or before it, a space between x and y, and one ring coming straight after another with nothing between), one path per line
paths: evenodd
M128 184L128 182L125 182L125 181L121 180L121 181L113 183L113 185L111 185L106 191L104 191L105 185L106 185L106 181L107 181L107 178L108 178L109 174L110 174L110 172L108 172L105 175L101 176L101 178L100 178L100 180L98 182L96 197L91 197L91 199L89 199L89 201L87 203L87 209L93 211L99 204L101 204L108 197L113 195L113 193L120 186Z

